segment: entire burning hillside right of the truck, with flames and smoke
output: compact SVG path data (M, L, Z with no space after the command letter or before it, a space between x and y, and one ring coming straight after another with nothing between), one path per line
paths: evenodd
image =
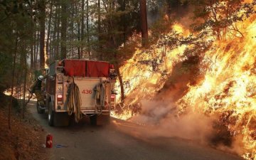
M114 117L153 126L161 136L195 139L203 131L208 143L255 160L256 2L245 2L233 4L224 21L230 4L215 1L193 34L180 23L157 37L152 31L150 47L137 48L120 68L126 98Z

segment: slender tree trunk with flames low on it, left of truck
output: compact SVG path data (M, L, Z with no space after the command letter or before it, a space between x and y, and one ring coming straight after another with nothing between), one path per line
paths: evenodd
M40 1L40 68L45 66L46 1Z

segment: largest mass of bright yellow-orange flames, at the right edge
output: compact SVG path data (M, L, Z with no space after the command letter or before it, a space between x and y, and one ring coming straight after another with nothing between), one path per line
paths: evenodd
M236 138L242 136L243 157L256 159L256 21L245 21L247 36L217 41L205 57L208 70L201 84L191 86L179 100L186 107L200 109L220 119Z

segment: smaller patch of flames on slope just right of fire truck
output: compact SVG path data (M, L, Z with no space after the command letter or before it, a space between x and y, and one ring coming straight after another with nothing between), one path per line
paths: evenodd
M188 30L183 29L178 23L174 25L174 30L178 33L185 31L188 34ZM154 97L156 92L164 86L166 75L171 73L174 64L184 60L182 55L186 45L169 50L168 47L159 48L158 43L151 46L153 49L150 51L137 48L133 57L120 68L124 82L124 94L127 95L125 105L132 105L143 98ZM118 82L116 88L119 90ZM128 119L131 115L124 117L119 118Z

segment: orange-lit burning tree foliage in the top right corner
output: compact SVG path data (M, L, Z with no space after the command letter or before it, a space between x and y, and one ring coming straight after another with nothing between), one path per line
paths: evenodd
M192 0L191 4L195 6L194 30L207 30L210 36L225 39L228 33L233 33L233 36L240 33L242 36L235 23L255 14L256 2L247 4L244 0Z

